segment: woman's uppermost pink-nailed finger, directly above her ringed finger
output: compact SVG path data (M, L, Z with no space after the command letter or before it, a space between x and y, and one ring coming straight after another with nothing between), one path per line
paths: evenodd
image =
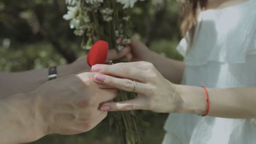
M130 64L130 63L129 63ZM131 64L130 64L131 65ZM92 71L98 72L106 75L120 76L127 79L133 79L145 82L147 81L146 71L138 69L136 67L130 67L127 64L114 64L114 65L104 65L96 64L92 66Z

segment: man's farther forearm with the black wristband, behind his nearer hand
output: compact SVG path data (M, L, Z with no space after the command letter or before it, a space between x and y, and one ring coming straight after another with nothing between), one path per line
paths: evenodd
M70 65L57 67L59 77L72 74ZM27 93L48 81L48 69L34 69L18 73L0 73L0 99L16 93Z

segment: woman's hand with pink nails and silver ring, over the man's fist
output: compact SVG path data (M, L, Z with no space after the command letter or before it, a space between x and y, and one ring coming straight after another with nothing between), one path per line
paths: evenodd
M95 75L97 83L129 92L135 90L138 93L136 99L103 104L102 106L110 107L109 111L177 112L183 105L176 85L166 80L151 63L94 65L92 71L98 72ZM136 85L133 80L136 81Z

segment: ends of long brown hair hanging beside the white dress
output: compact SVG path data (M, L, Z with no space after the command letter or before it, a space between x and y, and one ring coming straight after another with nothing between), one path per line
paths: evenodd
M208 0L177 0L179 3L179 14L181 15L181 34L185 35L187 31L194 34L197 14L207 6Z

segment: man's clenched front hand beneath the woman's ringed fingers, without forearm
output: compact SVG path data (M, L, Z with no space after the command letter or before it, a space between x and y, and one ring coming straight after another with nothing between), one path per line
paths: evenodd
M36 121L45 134L78 134L94 128L107 116L100 104L113 100L116 89L103 89L94 81L95 73L61 77L34 92Z

